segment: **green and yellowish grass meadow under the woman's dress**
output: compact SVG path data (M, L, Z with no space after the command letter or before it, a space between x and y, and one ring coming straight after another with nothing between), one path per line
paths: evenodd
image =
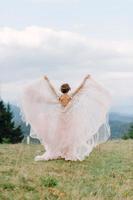
M133 200L133 140L109 141L84 161L35 162L42 145L0 145L0 200Z

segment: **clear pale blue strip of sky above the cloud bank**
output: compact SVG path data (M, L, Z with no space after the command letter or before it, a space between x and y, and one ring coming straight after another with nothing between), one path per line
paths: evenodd
M104 39L132 39L132 8L132 0L5 0L0 4L0 25L76 29Z

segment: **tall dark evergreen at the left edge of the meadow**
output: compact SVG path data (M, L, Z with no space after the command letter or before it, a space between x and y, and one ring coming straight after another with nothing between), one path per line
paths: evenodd
M15 127L13 113L9 103L7 106L0 100L0 143L18 143L23 139L21 126Z

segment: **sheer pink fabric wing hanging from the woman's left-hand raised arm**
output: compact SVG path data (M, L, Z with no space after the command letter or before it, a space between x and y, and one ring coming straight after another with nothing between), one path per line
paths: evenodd
M58 106L59 102L45 79L25 85L20 95L20 109L23 121L31 125L31 137L42 139L47 118L53 119Z

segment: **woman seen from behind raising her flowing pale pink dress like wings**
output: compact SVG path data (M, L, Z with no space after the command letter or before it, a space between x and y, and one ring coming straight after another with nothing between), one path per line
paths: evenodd
M30 136L45 148L35 161L84 160L110 137L110 103L109 92L91 75L73 92L68 83L56 91L47 76L26 85L21 96L23 120L31 125Z

